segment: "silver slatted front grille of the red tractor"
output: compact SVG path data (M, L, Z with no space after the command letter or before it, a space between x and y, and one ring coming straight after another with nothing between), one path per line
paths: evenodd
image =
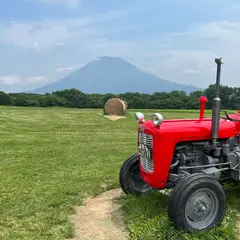
M142 168L153 172L153 139L146 133L139 132L139 154Z

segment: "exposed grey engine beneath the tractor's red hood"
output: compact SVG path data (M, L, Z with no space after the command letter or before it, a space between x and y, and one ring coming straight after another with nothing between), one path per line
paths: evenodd
M195 173L205 173L214 178L240 180L240 145L238 137L224 139L211 151L207 141L179 143L175 148L170 168L170 181Z

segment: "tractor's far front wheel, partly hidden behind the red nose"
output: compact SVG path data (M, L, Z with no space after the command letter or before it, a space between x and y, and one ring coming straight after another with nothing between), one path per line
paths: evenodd
M147 185L141 177L138 154L125 160L120 169L119 181L123 192L127 195L140 196L152 190L152 187Z

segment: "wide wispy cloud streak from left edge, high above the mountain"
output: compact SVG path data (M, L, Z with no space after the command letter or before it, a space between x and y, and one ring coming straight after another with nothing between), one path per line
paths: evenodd
M88 17L0 23L0 43L35 50L63 47L73 42L83 45L92 39L107 43L108 39L103 37L105 33L117 33L124 29L99 26L129 13L130 10L119 10Z

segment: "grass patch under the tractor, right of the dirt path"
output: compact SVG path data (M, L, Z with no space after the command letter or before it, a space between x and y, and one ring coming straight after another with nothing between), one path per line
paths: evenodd
M179 231L168 219L168 196L152 192L140 198L122 195L120 202L131 239L229 240L236 239L237 213L240 213L240 185L224 187L228 199L223 223L208 232L189 234Z

